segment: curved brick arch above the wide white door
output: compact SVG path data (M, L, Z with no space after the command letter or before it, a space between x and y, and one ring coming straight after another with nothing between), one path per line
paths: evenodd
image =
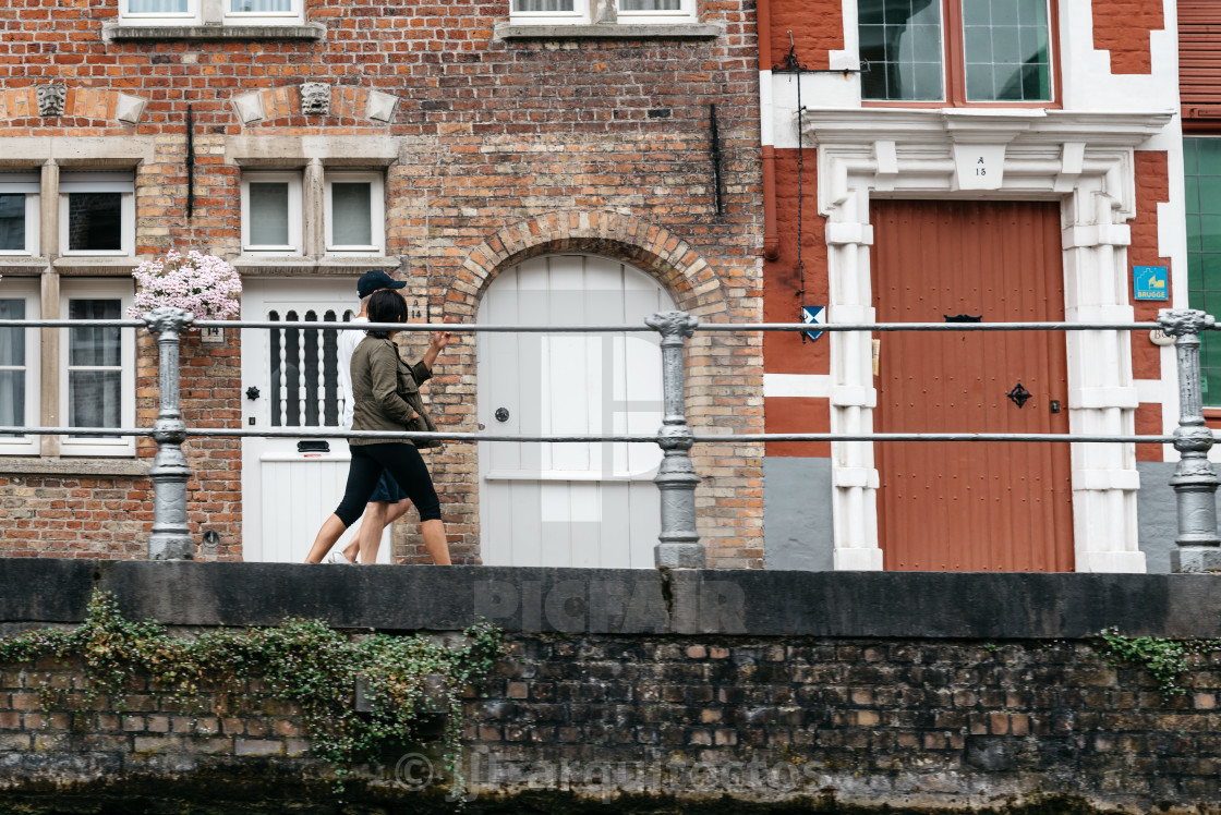
M549 212L504 227L463 261L453 290L475 311L501 270L538 255L585 251L652 275L684 311L712 320L728 311L717 275L691 244L664 227L618 212Z

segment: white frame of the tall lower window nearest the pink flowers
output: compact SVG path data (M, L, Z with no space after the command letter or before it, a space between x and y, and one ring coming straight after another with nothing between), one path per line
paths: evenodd
M120 318L134 305L134 283L129 278L114 279L71 279L60 284L60 315L66 320L70 300L120 300ZM71 361L71 328L60 328L60 416L65 425L70 421L68 412L68 362ZM120 329L120 405L118 423L122 427L136 426L136 329ZM115 439L96 437L72 438L60 437L60 455L79 456L134 456L136 439L121 436Z

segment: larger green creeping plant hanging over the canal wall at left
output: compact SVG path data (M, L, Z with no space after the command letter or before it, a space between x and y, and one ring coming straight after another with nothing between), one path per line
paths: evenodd
M487 622L463 633L460 644L421 636L348 637L319 620L289 619L183 638L156 621L126 620L112 594L95 592L76 630L0 639L0 665L79 656L87 680L81 710L103 693L121 692L133 672L147 673L167 706L197 714L205 708L201 692L242 698L252 695L252 681L261 683L264 693L298 706L314 755L335 766L341 783L353 764L377 761L386 749L418 738L422 719L447 711L444 764L451 792L462 794L462 694L488 673L503 642ZM365 715L353 713L357 677L366 687ZM62 695L50 686L40 692L44 706Z

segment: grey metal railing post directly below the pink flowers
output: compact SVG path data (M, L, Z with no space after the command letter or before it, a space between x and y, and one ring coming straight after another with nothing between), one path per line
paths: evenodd
M156 334L158 377L161 406L153 425L156 458L153 478L153 536L149 560L192 560L195 542L187 526L187 479L190 467L182 453L187 425L178 410L178 339L194 320L183 309L161 307L144 315L144 325Z

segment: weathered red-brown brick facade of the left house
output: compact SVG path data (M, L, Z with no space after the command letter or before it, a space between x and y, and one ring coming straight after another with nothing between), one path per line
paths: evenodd
M432 320L473 321L484 287L499 271L551 251L593 251L640 265L702 320L757 320L762 205L753 11L737 0L700 6L702 22L724 24L723 35L501 41L492 29L508 20L505 1L316 0L308 4L306 18L326 24L320 43L104 43L101 26L115 22L117 0L72 6L22 0L0 11L0 139L155 139L153 160L137 170L137 254L198 248L233 257L241 249L241 170L226 159L233 138L391 135L400 157L386 179L388 254L400 259L408 292L426 301ZM49 81L67 85L63 117L35 115L32 87ZM302 112L297 87L303 82L332 87L328 117ZM399 99L389 123L361 113L374 90ZM232 99L252 92L261 92L266 116L243 126ZM118 94L148 100L137 126L114 118ZM188 104L197 154L190 218L184 212ZM709 160L712 104L724 156L723 214L716 211ZM591 220L598 224L586 226ZM604 234L607 221L601 220L617 222L614 234ZM541 232L532 232L530 245L516 255L493 251L476 259L481 246L495 249L521 228ZM663 233L667 242L654 246ZM0 271L6 279L31 273L28 267ZM692 376L692 395L707 403L691 411L692 423L761 428L758 338L718 337L695 345L703 350L694 355L692 371L709 361L718 367ZM142 425L155 415L150 348L142 342ZM237 339L221 354L216 348L184 351L188 425L241 421ZM433 404L444 405L437 417L443 426L475 429L474 348L469 338L457 343L429 386ZM723 361L733 361L733 373L722 370ZM241 445L217 439L188 447L197 471L189 486L192 532L215 528L221 536L219 548L198 555L239 558ZM144 445L140 451L148 454ZM706 476L700 500L708 511L701 532L714 539L712 562L759 566L758 453L735 444L697 448L696 454ZM433 454L432 464L454 551L475 554L474 447L451 445ZM76 483L73 475L49 481ZM147 479L123 484L129 500L147 511ZM0 481L0 489L9 484ZM0 500L10 495L0 492ZM40 500L24 495L21 505L51 509ZM39 515L56 534L70 528ZM144 525L147 531L147 520ZM0 528L5 526L0 515ZM63 539L65 554L109 551L100 539ZM398 540L398 554L418 555L409 534ZM0 554L16 551L0 536Z

